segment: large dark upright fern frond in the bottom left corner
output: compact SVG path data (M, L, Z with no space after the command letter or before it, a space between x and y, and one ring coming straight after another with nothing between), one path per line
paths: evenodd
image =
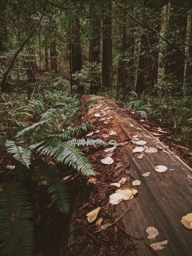
M0 240L1 255L33 255L33 217L27 190L20 182L1 184Z

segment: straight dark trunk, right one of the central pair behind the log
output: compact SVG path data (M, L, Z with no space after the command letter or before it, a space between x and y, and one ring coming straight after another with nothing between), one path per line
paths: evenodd
M112 58L112 2L103 8L103 50L102 50L102 85L104 89L113 88Z

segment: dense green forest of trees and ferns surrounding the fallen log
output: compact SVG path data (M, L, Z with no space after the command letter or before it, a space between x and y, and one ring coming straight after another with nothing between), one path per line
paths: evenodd
M116 99L191 146L191 7L188 0L0 0L2 255L33 253L29 184L47 186L69 213L57 164L95 174L79 146L104 142L77 138L93 128L77 123L82 95Z

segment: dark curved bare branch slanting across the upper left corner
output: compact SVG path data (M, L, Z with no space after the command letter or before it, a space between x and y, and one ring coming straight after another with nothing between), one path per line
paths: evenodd
M7 71L5 72L4 76L3 76L3 80L1 82L1 87L4 85L4 82L6 81L7 75L9 74L9 71L11 70L11 68L13 67L13 64L15 62L15 59L17 58L18 54L23 50L24 45L29 41L29 39L32 37L33 33L35 32L35 30L37 29L37 27L39 26L42 18L43 18L43 14L44 14L44 10L46 8L47 5L47 0L45 0L45 4L43 6L43 10L41 13L41 16L39 18L39 21L37 22L36 26L32 29L32 31L30 32L30 34L26 37L26 39L24 40L24 42L22 43L22 45L20 46L19 50L14 54L11 63L9 65L9 68L7 69Z

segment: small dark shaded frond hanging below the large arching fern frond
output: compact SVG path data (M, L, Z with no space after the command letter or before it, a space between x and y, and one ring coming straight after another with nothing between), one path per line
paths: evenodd
M57 201L57 206L62 213L69 213L70 210L68 191L66 183L59 178L54 179L54 184L49 188L49 193L53 193L52 200Z

